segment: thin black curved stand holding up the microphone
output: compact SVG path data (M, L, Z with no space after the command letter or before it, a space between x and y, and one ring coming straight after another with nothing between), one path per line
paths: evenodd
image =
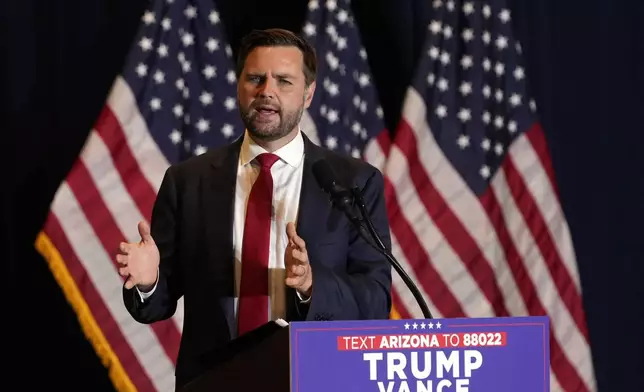
M371 178L368 180L370 181ZM367 206L364 201L364 197L362 196L362 192L360 192L360 189L357 187L351 188L351 193L353 195L353 199L355 204L358 205L358 209L360 210L360 214L362 215L362 219L355 219L353 220L353 223L356 225L358 228L358 231L360 234L365 237L365 240L373 246L376 250L378 250L383 256L387 258L389 263L394 267L396 272L398 272L398 275L402 278L403 282L407 285L409 288L409 291L414 295L414 298L416 299L416 302L418 302L418 305L420 306L421 311L423 312L423 317L426 319L432 319L432 313L429 311L429 307L427 306L427 303L425 302L425 299L423 296L420 294L420 291L418 290L418 287L414 284L414 282L411 280L409 275L407 275L407 272L403 269L403 267L398 263L398 260L394 257L391 252L387 250L387 247L385 244L383 244L382 239L378 235L378 232L376 231L376 228L373 226L373 223L371 222L371 219L369 218L369 213L367 212ZM369 238L367 238L366 234L364 233L364 227L362 226L362 223L367 226L367 230L371 234L371 241Z

